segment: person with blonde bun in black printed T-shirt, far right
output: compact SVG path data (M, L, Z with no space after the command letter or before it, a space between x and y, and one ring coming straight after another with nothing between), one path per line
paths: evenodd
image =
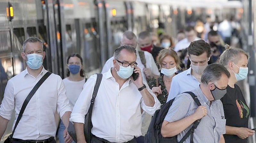
M219 63L230 73L227 94L221 98L226 118L226 143L247 143L247 137L254 135L254 131L248 128L250 109L241 89L235 84L247 77L248 58L249 55L244 50L228 45L220 55Z

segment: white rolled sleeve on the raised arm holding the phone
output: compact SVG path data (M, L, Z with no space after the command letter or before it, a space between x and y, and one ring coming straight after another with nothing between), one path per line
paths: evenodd
M150 115L154 115L155 111L160 109L160 106L161 106L161 103L159 102L159 100L157 99L157 97L153 94L152 90L148 87L148 84L147 83L144 83L146 85L146 89L149 91L149 93L154 97L154 100L155 100L155 104L153 107L149 107L147 106L144 101L143 101L143 98L142 98L142 101L141 101L141 108L146 111L148 114Z

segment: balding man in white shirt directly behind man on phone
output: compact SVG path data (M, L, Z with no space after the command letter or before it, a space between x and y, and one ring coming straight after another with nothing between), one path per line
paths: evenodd
M137 46L137 37L136 35L131 32L131 31L125 31L123 33L123 36L122 36L122 39L120 41L120 45L130 45L130 46L133 46L136 48ZM146 67L144 66L144 64L142 63L141 61L141 57L139 56L138 54L138 51L137 51L137 59L136 59L136 62L137 62L137 66L144 72L142 72L142 79L143 81L146 81L147 78L150 78L152 79L153 77L157 77L157 76L160 76L160 73L159 73L159 69L157 68L157 65L154 61L154 58L152 56L152 54L150 54L149 52L147 51L144 51L144 55L145 55L145 65ZM107 72L111 67L113 67L113 59L114 57L111 57L109 58L105 65L103 66L102 68L102 71L101 73L105 73Z

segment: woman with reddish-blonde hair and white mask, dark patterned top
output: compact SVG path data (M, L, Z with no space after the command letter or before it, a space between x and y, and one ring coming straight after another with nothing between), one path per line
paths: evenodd
M180 69L180 61L174 50L163 49L158 54L157 62L160 65L161 76L151 80L148 85L163 105L166 103L169 94L172 77Z

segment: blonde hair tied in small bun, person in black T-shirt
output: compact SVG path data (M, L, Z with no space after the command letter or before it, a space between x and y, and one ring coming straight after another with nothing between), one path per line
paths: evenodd
M241 48L234 48L230 47L229 45L224 46L226 50L220 55L219 64L223 65L224 67L227 67L228 62L237 62L240 55L239 54L245 54L247 59L250 57L248 53L246 53Z

